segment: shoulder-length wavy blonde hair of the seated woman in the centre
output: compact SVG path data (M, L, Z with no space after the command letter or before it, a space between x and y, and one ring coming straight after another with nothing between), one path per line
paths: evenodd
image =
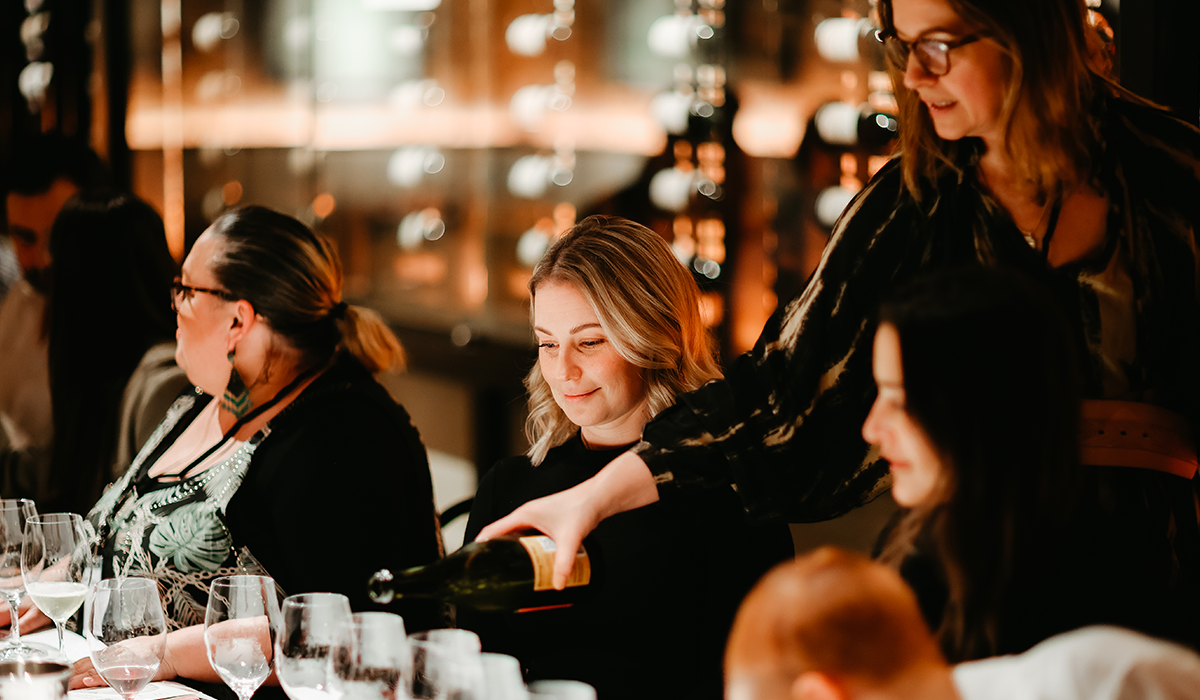
M589 216L556 240L529 280L529 311L547 282L574 286L600 319L608 342L642 369L649 415L683 391L721 377L713 340L700 316L700 288L671 246L640 223ZM534 465L578 430L563 413L534 364L526 377L526 435Z

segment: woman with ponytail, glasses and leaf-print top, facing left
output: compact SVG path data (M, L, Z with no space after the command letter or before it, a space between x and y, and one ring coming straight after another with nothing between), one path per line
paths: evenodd
M402 361L400 343L342 300L328 240L264 208L226 213L184 261L174 307L196 389L89 515L106 575L156 578L178 629L204 621L217 576L262 573L361 609L382 563L439 556L425 448L372 377ZM436 622L421 612L412 628Z

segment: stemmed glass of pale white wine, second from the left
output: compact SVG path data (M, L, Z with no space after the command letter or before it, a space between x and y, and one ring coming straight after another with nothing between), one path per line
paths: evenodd
M25 521L20 574L34 604L59 630L59 656L62 656L62 626L88 597L84 576L90 564L91 548L83 517L74 513L49 513Z

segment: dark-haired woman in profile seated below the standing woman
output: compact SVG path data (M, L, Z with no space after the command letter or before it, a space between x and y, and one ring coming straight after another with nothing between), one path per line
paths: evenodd
M907 509L882 558L949 658L1087 624L1193 642L1200 630L1200 602L1145 575L1153 561L1117 546L1087 485L1074 355L1044 292L997 270L919 280L881 310L863 437Z

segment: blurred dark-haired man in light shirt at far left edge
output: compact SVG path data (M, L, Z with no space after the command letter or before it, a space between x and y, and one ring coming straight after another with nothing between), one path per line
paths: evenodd
M0 303L0 492L41 502L50 496L44 486L54 432L47 349L50 227L80 187L101 186L107 178L96 154L58 134L18 139L8 166L5 223L20 279Z

